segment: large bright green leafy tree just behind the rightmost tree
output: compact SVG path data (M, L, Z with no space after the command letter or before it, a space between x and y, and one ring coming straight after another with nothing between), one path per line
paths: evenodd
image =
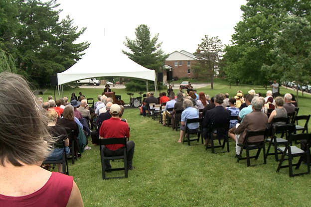
M266 85L271 73L265 66L275 61L270 51L275 46L283 19L288 14L310 17L310 1L248 0L241 10L244 11L243 20L235 26L232 45L225 48L226 77L231 82ZM276 79L282 76L282 73L273 74Z

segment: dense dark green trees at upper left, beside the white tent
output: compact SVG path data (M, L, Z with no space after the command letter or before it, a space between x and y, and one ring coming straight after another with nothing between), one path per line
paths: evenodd
M70 16L60 20L58 6L56 0L0 1L0 72L45 86L82 58L90 43L75 41L86 27L78 30Z

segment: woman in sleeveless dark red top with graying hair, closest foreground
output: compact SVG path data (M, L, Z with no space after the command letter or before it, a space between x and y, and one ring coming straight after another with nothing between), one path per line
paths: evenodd
M1 73L0 94L0 206L83 207L71 176L40 167L54 141L27 82Z

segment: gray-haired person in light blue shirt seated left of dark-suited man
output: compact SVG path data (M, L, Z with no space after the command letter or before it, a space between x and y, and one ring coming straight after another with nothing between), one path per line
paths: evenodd
M181 143L182 137L184 135L184 131L186 130L185 128L185 123L187 119L192 119L192 118L199 118L199 111L198 109L193 107L192 101L189 99L186 99L183 101L182 104L184 110L181 113L181 121L180 121L180 137L178 142ZM196 130L199 128L199 123L189 123L187 124L188 128L190 130Z

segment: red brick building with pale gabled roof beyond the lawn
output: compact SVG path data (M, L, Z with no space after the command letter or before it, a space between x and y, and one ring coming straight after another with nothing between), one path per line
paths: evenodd
M197 58L187 51L175 51L166 58L165 66L173 71L173 77L196 78L197 74L193 73L191 67L195 64Z

